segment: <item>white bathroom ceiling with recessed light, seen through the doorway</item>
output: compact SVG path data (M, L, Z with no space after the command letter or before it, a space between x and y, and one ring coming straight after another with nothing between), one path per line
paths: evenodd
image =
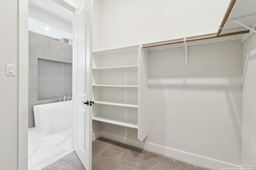
M72 42L73 13L52 0L28 0L28 30ZM50 30L46 30L49 27Z

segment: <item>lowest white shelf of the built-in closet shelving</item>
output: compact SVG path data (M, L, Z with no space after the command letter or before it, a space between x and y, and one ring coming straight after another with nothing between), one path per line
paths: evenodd
M115 125L138 129L138 122L136 122L136 121L118 119L118 118L101 116L101 115L92 117L92 120L102 121L102 122L106 122L106 123L111 123L111 124L115 124Z

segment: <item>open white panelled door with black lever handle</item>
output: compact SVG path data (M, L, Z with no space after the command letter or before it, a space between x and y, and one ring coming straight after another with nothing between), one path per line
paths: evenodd
M75 11L73 52L74 150L86 170L92 169L92 24L90 0ZM84 104L88 101L88 104ZM84 102L84 103L83 103Z

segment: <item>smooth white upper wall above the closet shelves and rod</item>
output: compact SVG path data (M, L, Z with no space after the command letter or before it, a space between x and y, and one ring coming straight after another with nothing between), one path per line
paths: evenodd
M229 2L101 0L100 37L94 37L93 51L215 33Z

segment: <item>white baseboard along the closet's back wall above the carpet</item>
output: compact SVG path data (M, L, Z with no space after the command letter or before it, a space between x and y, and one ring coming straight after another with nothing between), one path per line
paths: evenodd
M184 162L188 162L196 166L202 166L202 167L211 168L214 170L221 170L222 168L239 168L239 166L234 164L229 164L219 160L206 158L204 156L199 156L196 154L191 154L188 152L183 152L180 150L156 145L154 143L140 142L139 140L136 140L136 139L127 138L127 137L119 136L119 135L104 132L104 131L100 131L94 134L95 139L97 139L98 137L104 137L106 139L118 141L120 143L138 147L140 149L148 150L150 152L155 152L157 154L162 154L164 156L175 158L177 160L181 160Z

